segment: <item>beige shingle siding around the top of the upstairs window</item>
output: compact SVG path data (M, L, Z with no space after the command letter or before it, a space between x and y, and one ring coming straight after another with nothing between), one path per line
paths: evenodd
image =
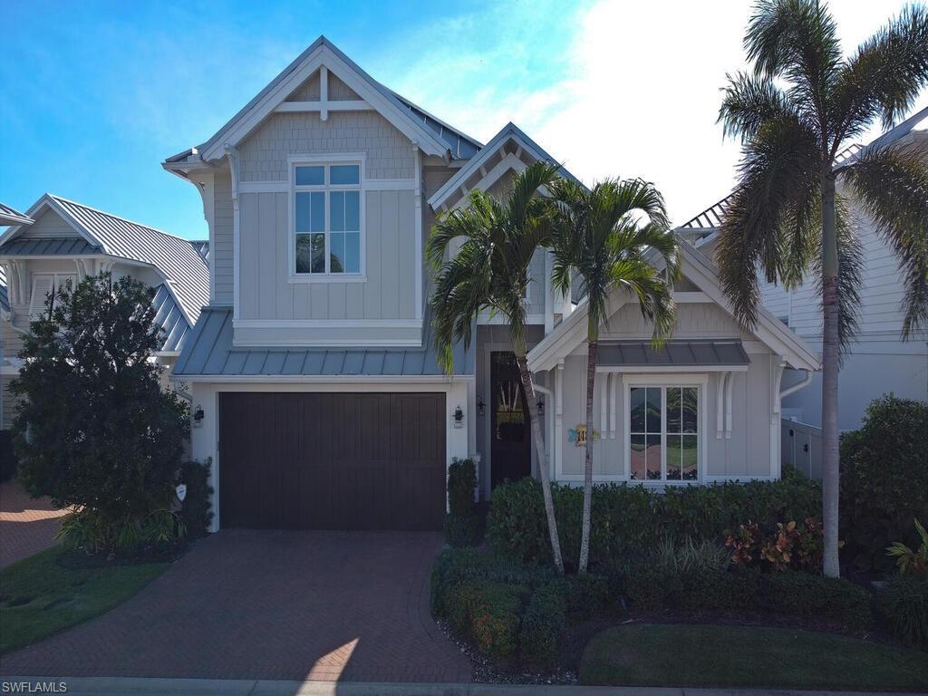
M298 154L364 152L369 179L411 179L412 143L374 111L277 113L239 146L242 181L286 181L287 158Z

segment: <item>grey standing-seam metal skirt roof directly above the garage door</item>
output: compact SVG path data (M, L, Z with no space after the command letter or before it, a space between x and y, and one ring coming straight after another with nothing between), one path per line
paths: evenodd
M428 317L426 317L428 321ZM238 348L232 345L232 310L204 307L174 365L181 380L242 377L429 377L445 375L431 341L424 348ZM474 352L458 343L455 375L474 373Z

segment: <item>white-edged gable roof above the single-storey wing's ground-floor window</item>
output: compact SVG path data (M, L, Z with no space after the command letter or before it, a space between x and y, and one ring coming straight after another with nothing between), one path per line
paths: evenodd
M718 277L712 262L702 252L686 242L681 241L679 249L683 274L689 277L728 316L734 317L731 303L728 302L728 298L725 297L718 284ZM619 306L613 306L611 314ZM528 353L529 369L537 372L555 367L559 359L571 354L575 348L586 342L588 311L589 305L586 299L582 300L570 316L561 321L544 340L535 345L535 348ZM763 307L758 310L757 326L754 327L752 333L775 354L783 355L790 367L807 370L817 370L821 367L818 353Z

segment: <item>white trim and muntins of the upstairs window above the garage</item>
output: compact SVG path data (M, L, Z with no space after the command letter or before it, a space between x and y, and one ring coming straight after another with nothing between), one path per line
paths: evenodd
M360 184L336 185L329 184L327 174L326 184L310 187L296 185L296 168L298 166L329 166L340 164L357 164L360 170ZM287 281L290 283L365 283L367 282L367 155L363 152L340 152L316 155L290 155L287 158L288 166L288 193L287 193ZM326 193L326 263L329 263L329 192L358 191L358 223L360 226L357 273L297 273L296 272L296 193L300 191L323 191ZM316 233L318 234L318 233Z

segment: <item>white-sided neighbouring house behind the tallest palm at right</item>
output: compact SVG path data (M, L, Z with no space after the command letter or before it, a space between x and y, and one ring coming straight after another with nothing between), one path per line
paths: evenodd
M881 135L867 147L911 146L928 153L928 109L923 109ZM857 157L863 149L853 145L839 155L840 165ZM850 195L839 180L839 192ZM716 229L725 216L728 199L696 215L677 228L677 232L692 239L696 247L711 256L715 250ZM877 233L872 221L851 201L852 213L864 251L863 286L860 289L860 331L857 341L844 357L839 378L838 427L852 430L860 425L867 405L883 393L928 400L928 333L924 330L902 341L902 299L904 277L899 270L896 254ZM816 350L821 347L821 304L814 277L808 277L800 288L789 291L782 286L765 284L762 302L780 321L802 336ZM803 380L803 375L790 370L784 384ZM821 375L813 375L809 386L793 393L783 402L784 416L816 428L821 426ZM792 425L789 430L796 431ZM793 432L793 435L797 434ZM803 437L807 433L799 433ZM789 437L789 432L785 435ZM814 438L816 434L813 432ZM814 468L813 463L813 468Z

